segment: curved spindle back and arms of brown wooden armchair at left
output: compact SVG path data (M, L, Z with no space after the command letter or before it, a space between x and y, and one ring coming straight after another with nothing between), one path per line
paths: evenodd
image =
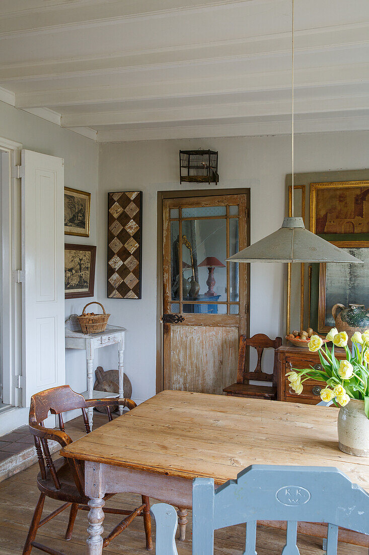
M56 490L61 489L61 482L58 472L55 468L53 459L50 455L48 440L57 441L61 447L69 445L73 440L65 432L63 412L80 408L83 415L86 433L90 433L89 421L86 408L93 406L106 406L107 417L112 420L108 399L90 399L85 400L83 395L73 391L69 385L54 387L36 393L31 397L29 409L29 430L34 436L34 443L37 452L38 463L40 466L41 476L46 480L46 467L49 469ZM110 405L116 405L117 398L112 398ZM134 401L130 399L120 399L119 404L128 407L130 410L136 406ZM59 430L57 428L46 428L44 420L49 413L58 415ZM83 463L80 461L69 459L68 463L73 474L75 485L81 496L84 496L84 472Z

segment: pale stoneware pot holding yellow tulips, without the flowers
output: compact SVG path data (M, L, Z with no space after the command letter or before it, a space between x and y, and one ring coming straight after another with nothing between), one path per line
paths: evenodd
M357 457L369 455L369 420L365 414L364 401L351 399L345 407L341 407L337 428L341 451Z

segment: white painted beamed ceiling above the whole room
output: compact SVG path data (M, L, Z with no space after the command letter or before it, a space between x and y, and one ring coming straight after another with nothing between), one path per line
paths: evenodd
M98 142L290 133L291 0L2 0L0 99ZM296 132L369 129L369 2L295 0Z

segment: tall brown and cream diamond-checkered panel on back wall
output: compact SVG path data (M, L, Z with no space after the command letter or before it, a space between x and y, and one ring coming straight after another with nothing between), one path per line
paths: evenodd
M108 193L107 296L141 299L142 191Z

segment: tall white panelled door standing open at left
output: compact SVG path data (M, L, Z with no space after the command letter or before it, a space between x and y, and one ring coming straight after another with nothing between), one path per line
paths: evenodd
M23 406L65 384L64 160L22 150Z

